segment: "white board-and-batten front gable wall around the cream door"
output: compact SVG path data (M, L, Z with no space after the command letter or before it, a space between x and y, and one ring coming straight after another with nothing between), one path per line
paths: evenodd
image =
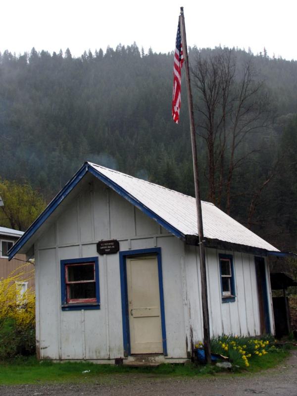
M123 357L119 254L99 255L101 239L120 251L161 247L168 358L185 358L181 260L184 243L99 181L80 193L35 244L37 344L41 358ZM99 310L61 310L60 260L99 257Z

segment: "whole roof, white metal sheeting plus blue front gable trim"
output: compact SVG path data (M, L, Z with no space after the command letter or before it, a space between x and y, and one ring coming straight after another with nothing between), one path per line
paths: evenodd
M198 235L195 198L104 166L86 162L9 250L9 259L23 246L28 249L34 243L32 237L36 231L43 226L57 206L87 173L101 180L176 237L185 240L188 235ZM206 239L222 241L234 246L247 246L279 252L276 247L258 237L214 204L201 201L201 206L204 237Z

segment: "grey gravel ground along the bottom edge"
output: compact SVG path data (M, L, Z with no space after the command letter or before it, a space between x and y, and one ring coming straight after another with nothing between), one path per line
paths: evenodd
M154 375L104 377L90 384L0 386L0 396L297 396L297 351L278 368L248 375L217 374L207 379Z

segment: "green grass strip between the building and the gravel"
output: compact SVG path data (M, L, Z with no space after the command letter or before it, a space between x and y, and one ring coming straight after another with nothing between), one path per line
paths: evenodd
M276 349L265 356L253 357L247 370L253 373L275 367L288 356L284 349ZM83 373L83 371L90 372ZM42 384L42 383L115 383L117 380L129 381L140 375L141 378L198 377L214 375L219 369L215 366L195 366L194 364L162 364L158 367L126 367L89 362L52 363L39 362L35 358L17 358L9 363L0 363L0 385Z

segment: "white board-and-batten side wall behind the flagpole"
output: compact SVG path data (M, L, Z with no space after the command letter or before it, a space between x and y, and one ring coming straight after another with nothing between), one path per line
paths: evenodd
M186 247L186 252L190 337L195 344L203 339L200 265L198 248L196 252L195 247ZM235 301L222 302L219 267L220 253L231 254L233 256ZM270 326L272 333L274 333L272 298L267 263L265 263L265 267ZM259 302L254 256L247 253L207 248L206 271L210 335L259 335Z

